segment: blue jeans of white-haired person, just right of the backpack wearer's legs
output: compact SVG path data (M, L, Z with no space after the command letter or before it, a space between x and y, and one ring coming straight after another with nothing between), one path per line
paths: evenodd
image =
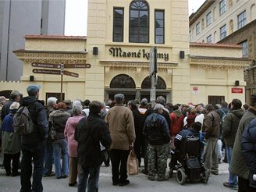
M43 175L50 175L52 172L53 163L53 151L52 151L52 141L46 140L45 153L44 153L44 172Z

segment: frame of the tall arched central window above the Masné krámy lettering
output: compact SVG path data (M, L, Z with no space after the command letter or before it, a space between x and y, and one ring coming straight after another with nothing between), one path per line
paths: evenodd
M140 32L138 32L138 41L137 42L135 42L135 41L131 41L131 39L130 39L130 36L131 36L131 14L130 14L130 12L132 11L132 10L134 10L134 9L131 9L131 5L133 5L133 2L144 2L145 4L147 4L148 5L148 9L147 9L147 11L148 11L148 41L147 42L141 42L140 41ZM138 10L138 16L140 16L140 9ZM144 11L144 10L143 10ZM138 18L140 18L140 17L138 17ZM139 23L139 22L138 22ZM140 31L140 24L138 24L138 31ZM143 35L143 34L141 34L141 35ZM149 4L148 4L148 2L147 1L145 1L145 0L133 0L132 2L130 2L130 6L129 6L129 42L130 43L144 43L144 44L148 44L149 42L150 42L150 7L149 7Z

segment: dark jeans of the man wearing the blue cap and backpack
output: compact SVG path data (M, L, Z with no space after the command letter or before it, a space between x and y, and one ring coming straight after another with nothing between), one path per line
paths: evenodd
M41 181L43 176L45 141L35 144L22 144L22 148L23 156L21 160L20 192L42 192L43 185ZM32 159L34 163L34 171L31 186Z

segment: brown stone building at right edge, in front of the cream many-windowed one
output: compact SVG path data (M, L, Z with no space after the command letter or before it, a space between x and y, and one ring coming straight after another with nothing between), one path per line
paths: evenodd
M246 101L249 102L250 94L256 93L256 20L236 30L233 34L229 34L219 43L240 44L243 48L243 57L254 60L251 66L244 71L247 82Z

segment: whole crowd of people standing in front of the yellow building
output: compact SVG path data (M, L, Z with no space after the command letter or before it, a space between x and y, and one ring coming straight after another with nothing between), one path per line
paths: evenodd
M27 87L27 97L19 91L12 91L9 101L0 97L3 165L6 176L20 176L21 192L43 191L41 180L46 176L69 177L69 186L77 184L79 192L98 191L101 164L109 166L109 159L112 185L126 186L132 148L139 166L144 160L141 172L148 180L169 180L180 143L187 137L200 138L200 162L209 174L219 174L222 160L229 163L224 187L256 191L256 94L251 95L250 107L239 99L229 104L172 105L162 96L151 105L146 98L126 102L123 94L106 103L54 97L44 103L38 99L40 88ZM22 107L30 112L30 133L18 133L13 126Z

